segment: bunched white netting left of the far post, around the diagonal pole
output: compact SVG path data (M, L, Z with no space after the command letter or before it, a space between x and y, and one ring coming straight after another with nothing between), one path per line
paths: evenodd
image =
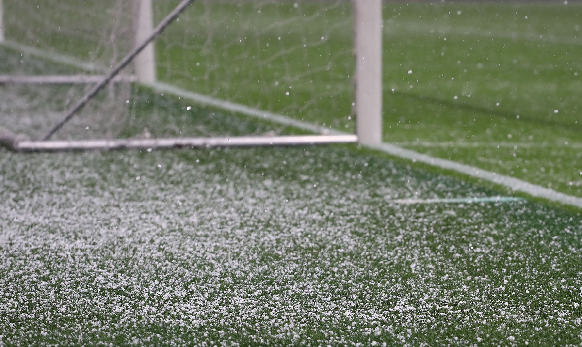
M132 1L5 0L3 74L93 75L114 65L132 48ZM73 78L74 80L75 78ZM79 78L77 78L79 79ZM92 84L2 85L2 118L14 131L33 137L52 126ZM116 137L127 120L129 83L111 84L63 131L61 138Z

